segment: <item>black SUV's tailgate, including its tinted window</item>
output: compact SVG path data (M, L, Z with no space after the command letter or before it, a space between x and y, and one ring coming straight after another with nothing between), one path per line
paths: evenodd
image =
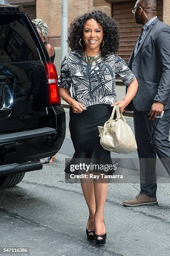
M0 19L0 133L46 126L46 72L25 18Z

